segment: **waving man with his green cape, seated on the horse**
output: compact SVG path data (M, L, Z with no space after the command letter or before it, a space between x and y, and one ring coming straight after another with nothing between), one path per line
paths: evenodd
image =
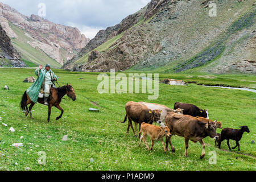
M51 86L54 86L53 81L57 81L57 77L52 72L51 66L49 64L46 64L46 67L44 68L42 65L39 65L39 68L35 71L35 75L38 76L38 78L36 79L34 84L27 89L27 94L30 97L31 101L36 103L38 101L40 89L44 84L44 105L49 105L49 90Z

